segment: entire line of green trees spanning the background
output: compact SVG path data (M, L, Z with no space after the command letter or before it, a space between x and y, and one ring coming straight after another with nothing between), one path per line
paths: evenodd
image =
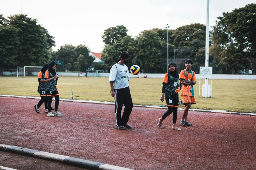
M209 66L215 74L238 74L240 70L256 67L256 4L223 12L210 31ZM110 27L102 35L105 43L101 60L104 65L94 63L86 45L65 44L57 51L54 37L38 24L37 19L27 15L13 15L4 18L0 14L0 72L3 68L17 66L39 66L50 60L59 60L60 71L107 70L118 62L119 54L128 51L131 59L128 67L137 64L144 73L165 73L167 71L167 29L154 28L142 31L132 37L124 25ZM183 60L193 60L193 70L205 64L206 27L200 23L184 25L168 30L169 62L174 61L179 70ZM196 67L197 66L197 67ZM58 68L58 69L59 69ZM65 70L64 70L65 71Z

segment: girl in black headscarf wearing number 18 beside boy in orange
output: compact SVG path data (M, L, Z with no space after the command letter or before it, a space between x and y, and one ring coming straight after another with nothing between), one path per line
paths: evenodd
M177 121L177 113L179 107L179 74L176 70L176 64L174 62L170 62L168 64L169 71L164 75L163 78L163 87L162 87L162 97L161 101L166 100L166 105L168 110L163 114L163 116L157 119L157 126L162 128L162 121L165 120L167 116L173 113L173 124L172 129L174 130L181 130L176 127Z

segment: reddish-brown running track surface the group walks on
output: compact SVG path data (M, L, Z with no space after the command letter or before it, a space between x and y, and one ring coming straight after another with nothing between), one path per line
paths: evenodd
M132 129L115 128L114 105L60 101L63 116L35 112L39 100L0 97L0 143L136 170L256 169L256 117L189 112L171 129L165 109L133 107ZM54 101L53 105L54 106Z

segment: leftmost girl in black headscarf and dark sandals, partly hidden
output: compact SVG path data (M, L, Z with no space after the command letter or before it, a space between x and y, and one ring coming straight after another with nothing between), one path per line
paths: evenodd
M43 104L44 102L44 113L48 113L48 107L47 107L47 97L46 97L46 90L45 90L45 85L46 82L44 81L44 76L45 76L45 71L47 70L49 64L44 64L43 68L41 69L40 72L38 72L38 77L37 81L39 82L37 92L39 92L41 100L38 102L37 105L35 105L35 110L37 113L39 112L39 107Z

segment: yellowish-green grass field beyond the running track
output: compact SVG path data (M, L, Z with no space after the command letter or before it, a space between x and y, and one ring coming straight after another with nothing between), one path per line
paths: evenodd
M109 78L78 78L62 76L58 80L60 98L114 102L110 94ZM204 79L201 81L204 83ZM210 81L209 81L210 83ZM133 104L162 105L162 78L131 78L129 81ZM228 110L233 112L256 112L256 80L213 80L213 98L198 97L199 79L194 86L197 103L191 109ZM37 77L0 77L0 94L35 96ZM202 93L202 92L201 92ZM181 99L181 97L180 97ZM184 106L180 106L184 108Z

